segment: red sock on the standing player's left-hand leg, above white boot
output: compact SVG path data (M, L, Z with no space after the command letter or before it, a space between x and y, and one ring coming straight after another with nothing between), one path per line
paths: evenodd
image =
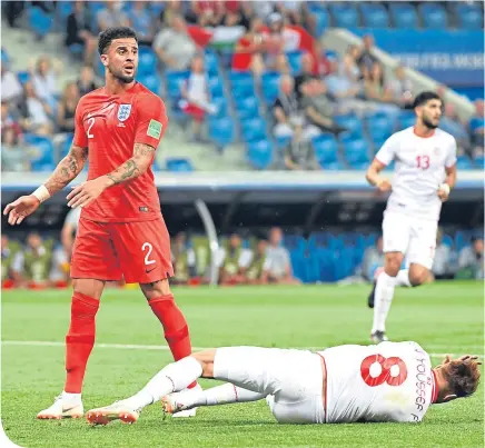
M81 292L73 293L71 325L66 336L66 392L81 392L86 365L95 345L98 308L99 300Z

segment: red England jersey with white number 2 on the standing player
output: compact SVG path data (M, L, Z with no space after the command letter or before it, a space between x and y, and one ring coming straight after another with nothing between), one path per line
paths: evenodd
M108 175L133 155L135 143L154 148L167 129L164 101L139 82L121 94L105 88L85 97L76 109L73 145L88 148L88 180ZM82 209L100 222L148 221L160 216L151 167L136 179L106 189Z

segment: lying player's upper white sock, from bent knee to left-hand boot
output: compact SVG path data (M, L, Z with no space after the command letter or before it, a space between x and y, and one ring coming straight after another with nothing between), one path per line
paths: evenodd
M165 395L184 390L201 375L200 362L188 356L164 367L138 394L123 401L130 401L133 409L145 408Z

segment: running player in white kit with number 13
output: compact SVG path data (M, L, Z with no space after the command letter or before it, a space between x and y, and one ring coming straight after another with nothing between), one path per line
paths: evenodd
M386 318L396 286L424 283L433 267L442 202L456 182L456 141L438 129L443 102L435 92L415 99L416 125L394 133L377 152L367 180L390 191L383 221L385 262L369 296L374 307L370 338L387 340ZM396 161L393 183L380 171ZM404 256L409 270L399 270Z

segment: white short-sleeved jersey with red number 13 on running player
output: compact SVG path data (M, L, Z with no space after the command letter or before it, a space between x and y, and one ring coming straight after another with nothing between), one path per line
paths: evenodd
M396 161L389 211L420 219L438 220L442 201L437 196L446 168L456 163L455 138L436 129L432 137L416 136L407 128L390 136L376 155L384 165Z

